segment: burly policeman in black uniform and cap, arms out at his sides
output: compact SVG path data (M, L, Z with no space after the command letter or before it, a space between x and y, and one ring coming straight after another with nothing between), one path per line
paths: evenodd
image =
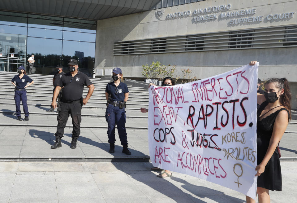
M83 104L87 104L94 91L94 85L88 76L78 70L77 60L71 59L67 65L69 65L69 73L66 73L60 78L53 95L52 107L56 108L56 100L63 87L62 102L57 116L56 142L51 146L52 149L62 147L61 139L64 135L64 128L69 114L71 115L73 126L70 148L76 148L76 140L80 135L81 107ZM87 96L83 99L84 86L87 86L89 90Z

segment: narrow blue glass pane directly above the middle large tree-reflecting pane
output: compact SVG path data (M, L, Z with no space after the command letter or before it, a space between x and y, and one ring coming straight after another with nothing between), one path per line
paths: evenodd
M28 28L28 37L62 39L62 30Z

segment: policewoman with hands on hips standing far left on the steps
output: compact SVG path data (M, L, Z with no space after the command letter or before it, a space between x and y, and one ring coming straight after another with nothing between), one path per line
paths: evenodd
M26 75L26 70L24 66L19 66L18 68L18 75L15 75L11 83L15 86L15 111L16 116L18 117L18 120L21 121L21 109L20 109L20 103L22 100L23 109L25 113L24 121L29 121L29 111L28 111L28 105L27 105L27 91L26 87L32 85L34 81ZM27 84L29 82L29 84Z

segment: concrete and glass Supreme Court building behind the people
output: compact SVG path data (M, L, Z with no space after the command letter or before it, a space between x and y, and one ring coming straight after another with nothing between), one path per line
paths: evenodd
M262 80L288 79L296 108L296 8L284 0L3 0L0 68L15 71L35 54L43 74L76 57L89 77L121 67L143 80L141 66L160 61L202 79L257 60Z

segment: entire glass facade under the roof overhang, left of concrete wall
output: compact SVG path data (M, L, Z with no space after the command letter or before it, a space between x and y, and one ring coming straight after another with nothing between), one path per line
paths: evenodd
M81 72L92 77L96 23L0 11L0 70L16 71L33 54L35 74L54 74L58 64L67 68L72 58L79 61Z

